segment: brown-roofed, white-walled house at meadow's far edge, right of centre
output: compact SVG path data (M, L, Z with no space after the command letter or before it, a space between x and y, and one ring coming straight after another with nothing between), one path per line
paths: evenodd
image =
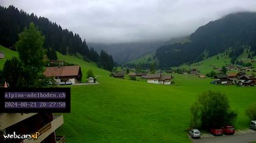
M148 83L151 83L151 84L170 85L173 77L169 75L163 75L161 73L157 73L157 74L146 75L146 79L148 79Z

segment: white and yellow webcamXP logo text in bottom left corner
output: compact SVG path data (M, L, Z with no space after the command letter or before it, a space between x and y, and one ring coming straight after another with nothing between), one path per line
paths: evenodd
M38 137L40 136L39 132L35 132L31 135L27 134L27 135L17 135L15 133L15 131L13 132L13 134L8 134L8 135L4 135L4 139L38 139Z

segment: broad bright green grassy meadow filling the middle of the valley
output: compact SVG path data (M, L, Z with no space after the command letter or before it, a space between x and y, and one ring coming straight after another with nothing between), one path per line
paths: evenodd
M5 52L6 58L17 56L4 47L0 51ZM172 75L173 85L115 79L94 63L60 53L58 57L79 64L84 74L82 81L91 68L100 82L70 86L71 113L64 114L65 123L57 130L57 135L66 136L66 142L191 142L185 130L190 123L190 107L200 93L226 93L230 106L238 111L235 127L240 129L249 124L244 110L256 102L255 87L213 85L210 78L176 74ZM0 68L4 60L0 59ZM206 65L202 69L206 72Z

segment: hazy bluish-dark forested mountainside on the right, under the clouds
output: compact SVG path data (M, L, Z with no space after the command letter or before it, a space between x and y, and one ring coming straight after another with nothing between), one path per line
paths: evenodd
M160 67L175 67L191 64L210 56L230 50L230 58L243 53L243 47L250 48L250 56L256 55L256 13L243 12L227 15L203 25L190 35L184 44L163 45L155 56Z

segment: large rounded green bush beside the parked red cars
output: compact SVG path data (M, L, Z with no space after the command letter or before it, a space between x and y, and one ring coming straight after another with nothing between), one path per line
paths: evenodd
M233 125L237 116L236 111L230 110L227 96L219 91L205 91L190 110L190 126L204 129Z

